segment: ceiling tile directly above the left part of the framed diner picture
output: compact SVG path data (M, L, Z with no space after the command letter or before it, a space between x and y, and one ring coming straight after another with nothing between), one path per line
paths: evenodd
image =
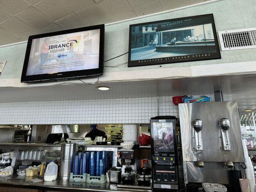
M162 8L159 4L158 1L154 1L148 5L145 5L143 7L140 8L135 8L133 9L134 12L136 13L137 16L141 16L141 15L148 15L148 14L152 14L155 12L162 12Z

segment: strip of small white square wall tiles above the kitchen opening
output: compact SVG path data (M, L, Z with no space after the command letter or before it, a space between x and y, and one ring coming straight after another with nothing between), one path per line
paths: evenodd
M178 114L172 96L159 97L159 115ZM0 103L0 124L149 123L156 115L156 97Z

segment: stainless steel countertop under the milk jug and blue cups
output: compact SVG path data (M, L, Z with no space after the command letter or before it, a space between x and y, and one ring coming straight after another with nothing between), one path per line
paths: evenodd
M117 188L116 184L103 183L103 184L90 184L90 183L75 183L69 180L54 180L54 181L43 181L34 183L30 181L36 177L26 177L13 175L8 178L0 178L0 186L4 187L17 187L17 188L28 188L28 189L39 189L39 190L55 190L65 192L151 192L151 190L142 189L130 189L130 188ZM41 179L41 178L38 178ZM43 180L43 179L42 179Z

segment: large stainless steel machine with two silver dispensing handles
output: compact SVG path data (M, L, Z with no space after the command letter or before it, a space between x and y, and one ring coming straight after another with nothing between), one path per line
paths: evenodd
M184 181L228 184L231 167L244 162L237 103L179 104ZM195 148L195 123L202 120L203 150Z

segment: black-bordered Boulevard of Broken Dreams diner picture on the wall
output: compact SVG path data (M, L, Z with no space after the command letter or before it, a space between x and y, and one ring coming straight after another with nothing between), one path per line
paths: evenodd
M220 58L213 14L130 25L128 67Z

